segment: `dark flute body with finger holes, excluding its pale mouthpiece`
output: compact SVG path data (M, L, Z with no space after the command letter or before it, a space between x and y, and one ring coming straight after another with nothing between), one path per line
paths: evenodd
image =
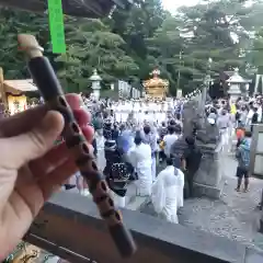
M122 215L115 209L113 199L108 195L108 187L104 175L98 170L93 153L73 113L65 99L62 88L46 57L35 57L28 61L32 78L50 110L58 111L65 118L62 136L72 153L82 176L87 180L93 202L96 204L101 217L105 219L110 233L122 256L130 256L136 245L130 232L124 227Z

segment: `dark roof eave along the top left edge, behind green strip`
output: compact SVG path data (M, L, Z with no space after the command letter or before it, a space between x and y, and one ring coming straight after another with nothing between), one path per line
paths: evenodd
M115 8L128 9L134 0L62 0L64 13L81 18L102 18L112 14ZM47 12L47 0L0 0L1 5L31 12Z

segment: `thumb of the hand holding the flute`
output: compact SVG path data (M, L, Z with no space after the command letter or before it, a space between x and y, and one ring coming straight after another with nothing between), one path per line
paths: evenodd
M5 169L19 169L25 163L44 156L61 134L62 115L47 112L45 117L32 130L11 138L0 139L0 148L4 152L0 163Z

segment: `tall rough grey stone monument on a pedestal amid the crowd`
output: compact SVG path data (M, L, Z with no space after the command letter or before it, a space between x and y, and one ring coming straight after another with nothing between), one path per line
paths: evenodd
M195 136L203 157L194 178L194 195L219 198L224 185L219 165L221 151L219 130L216 125L207 122L205 111L201 110L199 103L201 100L196 96L184 104L183 136L174 144L171 151L181 156L186 148L185 137Z

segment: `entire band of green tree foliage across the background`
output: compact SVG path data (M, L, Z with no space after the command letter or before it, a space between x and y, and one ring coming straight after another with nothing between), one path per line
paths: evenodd
M170 81L170 92L185 92L239 67L263 71L263 3L216 0L182 7L175 14L161 0L145 0L132 10L117 10L111 19L65 15L67 53L52 54L46 14L0 9L0 66L5 78L27 78L18 33L35 34L67 91L84 91L94 68L103 87L117 79L141 82L158 67ZM213 59L208 67L208 58Z

